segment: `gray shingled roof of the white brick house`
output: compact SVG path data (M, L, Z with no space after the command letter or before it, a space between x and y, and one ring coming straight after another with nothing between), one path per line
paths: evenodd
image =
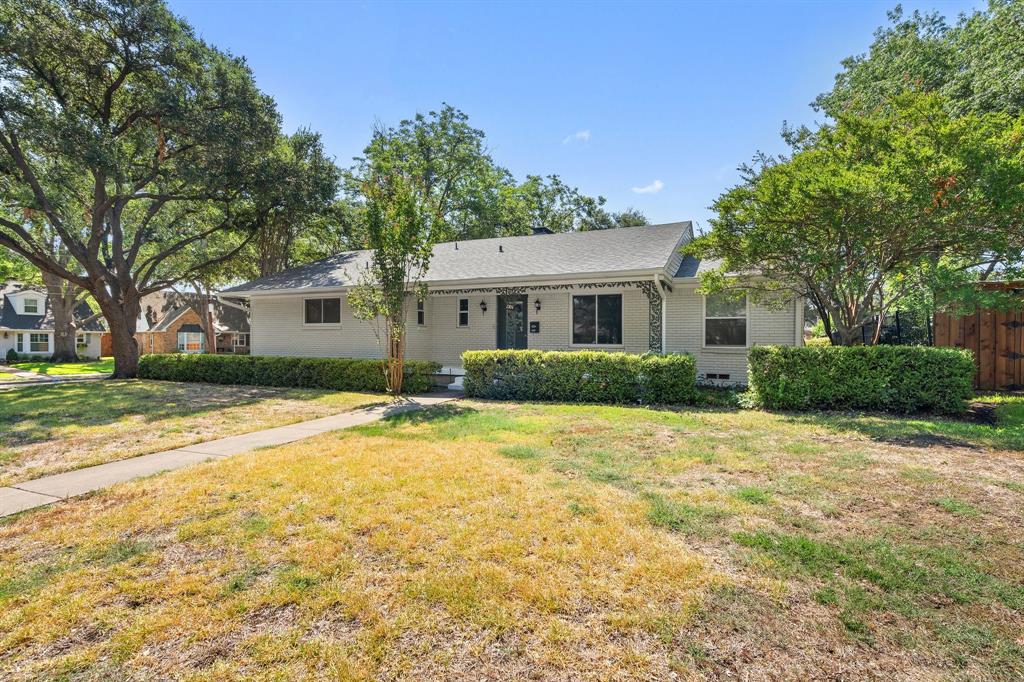
M652 271L669 263L689 221L621 227L587 232L559 232L446 242L434 247L424 282L517 280L587 276ZM260 278L225 290L260 292L288 289L351 287L370 263L370 251L348 251L315 263Z

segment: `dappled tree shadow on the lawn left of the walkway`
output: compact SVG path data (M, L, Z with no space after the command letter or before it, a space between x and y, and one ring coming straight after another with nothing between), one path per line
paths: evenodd
M296 396L296 390L115 380L30 386L4 395L0 441L26 445L51 440L56 427L69 424L103 426L136 416L158 422L288 396Z

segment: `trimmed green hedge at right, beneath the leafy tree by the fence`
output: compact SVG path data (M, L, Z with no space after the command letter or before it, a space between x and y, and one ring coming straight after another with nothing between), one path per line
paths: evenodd
M756 401L778 410L962 412L973 394L970 351L924 346L755 346Z

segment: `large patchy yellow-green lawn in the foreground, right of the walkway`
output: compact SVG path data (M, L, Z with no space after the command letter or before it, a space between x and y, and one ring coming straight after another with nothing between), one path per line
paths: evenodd
M1014 437L464 401L0 523L0 677L1020 679Z

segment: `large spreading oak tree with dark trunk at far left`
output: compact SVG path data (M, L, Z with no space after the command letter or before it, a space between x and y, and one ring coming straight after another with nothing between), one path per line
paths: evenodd
M91 294L117 377L137 371L140 297L257 231L279 127L245 62L162 2L0 6L0 246Z

